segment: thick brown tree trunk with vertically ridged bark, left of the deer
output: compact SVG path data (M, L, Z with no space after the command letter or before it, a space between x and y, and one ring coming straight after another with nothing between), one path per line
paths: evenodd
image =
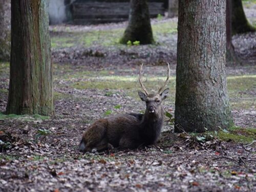
M11 63L7 113L53 113L47 0L11 1Z

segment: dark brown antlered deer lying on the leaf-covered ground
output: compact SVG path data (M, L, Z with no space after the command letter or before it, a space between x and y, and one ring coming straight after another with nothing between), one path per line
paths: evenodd
M148 93L144 87L141 80L143 63L140 67L138 78L144 93L138 91L138 95L146 104L144 114L128 113L96 120L84 132L79 151L95 153L114 147L135 149L155 144L160 137L164 121L162 102L169 92L169 88L163 90L170 76L169 64L167 65L167 78L156 93Z

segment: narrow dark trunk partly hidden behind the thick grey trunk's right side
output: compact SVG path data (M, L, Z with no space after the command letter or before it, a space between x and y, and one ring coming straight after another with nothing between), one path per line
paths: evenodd
M231 2L232 0L226 0L226 61L227 64L230 65L239 65L242 64L240 58L237 56L236 52L234 51L234 46L232 44L232 24L231 24L231 17L232 17L232 8L231 8Z

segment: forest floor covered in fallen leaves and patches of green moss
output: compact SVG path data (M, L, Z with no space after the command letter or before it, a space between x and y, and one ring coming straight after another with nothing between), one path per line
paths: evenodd
M119 45L125 25L51 27L55 115L0 113L0 191L256 191L256 33L233 37L242 60L227 67L236 126L176 134L166 117L156 146L78 152L96 119L145 109L137 95L142 62L149 90L164 81L170 63L164 108L174 115L177 18L153 19L157 44L149 46ZM0 63L2 112L8 84L9 64Z

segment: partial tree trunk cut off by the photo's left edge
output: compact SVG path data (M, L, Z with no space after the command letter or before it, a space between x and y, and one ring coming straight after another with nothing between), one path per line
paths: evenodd
M10 60L11 0L0 0L0 61Z

